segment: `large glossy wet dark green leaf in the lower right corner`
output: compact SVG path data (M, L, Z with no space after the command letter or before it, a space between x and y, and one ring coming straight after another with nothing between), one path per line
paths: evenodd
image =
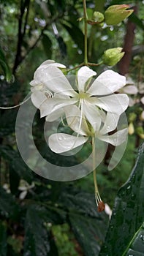
M144 143L129 180L118 191L107 231L105 244L99 256L124 254L144 221ZM137 238L136 238L137 239ZM139 238L138 238L139 239ZM130 249L131 247L129 247ZM144 252L144 251L143 251ZM125 254L124 254L125 255ZM133 253L132 253L133 255ZM134 255L140 255L135 252ZM142 254L141 254L142 255Z

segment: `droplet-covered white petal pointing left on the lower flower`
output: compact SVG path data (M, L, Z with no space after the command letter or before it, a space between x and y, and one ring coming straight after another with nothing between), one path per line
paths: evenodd
M73 148L83 145L88 140L88 137L75 137L65 133L55 133L50 135L48 144L50 149L55 153L64 153Z

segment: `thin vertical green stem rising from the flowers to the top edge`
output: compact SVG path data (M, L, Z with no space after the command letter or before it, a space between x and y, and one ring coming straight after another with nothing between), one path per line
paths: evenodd
M87 66L88 65L88 15L86 11L86 0L83 0L83 15L84 15L84 20L85 20L85 30L84 30L84 64Z

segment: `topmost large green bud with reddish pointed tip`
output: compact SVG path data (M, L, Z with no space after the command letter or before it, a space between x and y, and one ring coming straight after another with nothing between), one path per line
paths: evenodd
M118 25L122 20L129 17L134 10L126 10L128 4L112 5L105 11L105 22L107 25Z

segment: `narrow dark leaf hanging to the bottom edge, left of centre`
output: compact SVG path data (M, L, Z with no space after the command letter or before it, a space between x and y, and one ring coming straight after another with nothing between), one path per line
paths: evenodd
M43 207L37 205L29 206L25 221L23 256L48 256L50 244L48 230L45 227L47 214Z

